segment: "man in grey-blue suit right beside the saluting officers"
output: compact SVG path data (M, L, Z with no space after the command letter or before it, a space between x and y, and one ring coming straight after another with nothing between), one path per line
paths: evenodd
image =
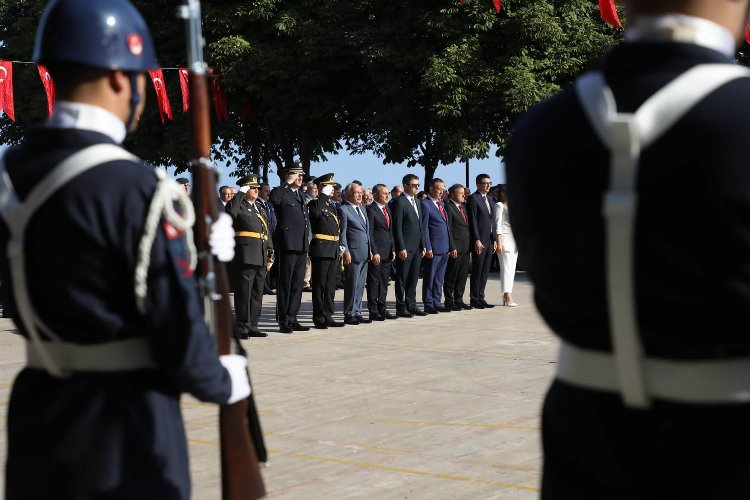
M370 323L362 316L362 294L367 281L370 259L370 231L362 205L362 186L350 183L344 189L344 202L339 207L341 246L344 249L344 323Z

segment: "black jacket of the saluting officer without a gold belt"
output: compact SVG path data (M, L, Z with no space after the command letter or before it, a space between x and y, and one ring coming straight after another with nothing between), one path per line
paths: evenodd
M302 191L292 191L288 184L271 191L269 200L276 209L277 250L281 252L308 252L310 249L310 222L303 196Z

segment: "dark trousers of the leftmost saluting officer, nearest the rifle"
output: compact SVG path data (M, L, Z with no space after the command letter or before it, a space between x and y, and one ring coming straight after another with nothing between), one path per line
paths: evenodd
M232 273L237 331L248 333L250 330L257 330L263 305L266 268L232 263L229 269Z

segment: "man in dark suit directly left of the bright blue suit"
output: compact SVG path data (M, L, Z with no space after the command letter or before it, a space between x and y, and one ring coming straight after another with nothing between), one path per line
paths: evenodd
M402 318L425 316L417 307L417 282L424 256L422 243L422 204L419 177L406 174L402 180L404 193L393 201L393 243L396 248L396 314Z

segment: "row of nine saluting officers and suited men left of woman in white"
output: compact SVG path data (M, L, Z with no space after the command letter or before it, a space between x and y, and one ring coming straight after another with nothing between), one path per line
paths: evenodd
M419 177L407 174L399 197L389 200L388 187L377 184L374 202L368 206L362 202L363 190L357 182L344 188L341 202L335 201L331 196L334 174L313 181L318 195L310 199L300 189L303 175L299 164L287 169L285 182L271 190L267 200L259 197L258 176L245 176L237 182L240 193L224 206L235 230L230 274L241 338L267 336L258 323L266 273L274 262L278 266L279 331L310 329L297 319L308 256L315 328L494 307L484 298L492 254L498 249L493 224L496 206L488 198L489 175L477 176L477 190L468 200L464 186L456 184L444 202L442 180L433 179L429 196L420 200ZM395 314L386 308L394 268ZM420 270L423 308L417 306ZM333 318L337 276L342 272L343 323ZM365 288L367 317L363 314Z

